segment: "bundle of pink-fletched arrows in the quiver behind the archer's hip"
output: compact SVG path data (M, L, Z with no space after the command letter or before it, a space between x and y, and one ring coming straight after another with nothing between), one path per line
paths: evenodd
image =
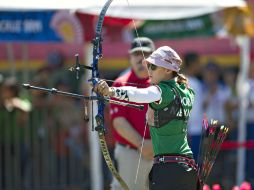
M228 127L220 125L217 120L212 120L209 124L207 117L204 116L198 158L198 174L201 186L208 179L227 132Z

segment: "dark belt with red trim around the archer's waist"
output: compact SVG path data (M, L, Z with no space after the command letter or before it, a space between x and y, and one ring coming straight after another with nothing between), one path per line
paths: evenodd
M183 163L191 166L195 170L197 170L197 165L195 163L195 160L192 158L188 158L185 156L156 156L154 157L153 163L154 164L162 164L162 163Z

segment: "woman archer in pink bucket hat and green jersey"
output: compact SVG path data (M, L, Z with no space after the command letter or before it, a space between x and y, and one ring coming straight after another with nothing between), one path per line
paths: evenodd
M103 96L149 103L146 122L150 127L155 155L149 174L151 190L198 188L197 166L187 142L187 121L195 95L187 78L179 74L181 63L181 58L172 48L163 46L143 61L151 86L142 89L109 87L103 80L94 86L94 91Z

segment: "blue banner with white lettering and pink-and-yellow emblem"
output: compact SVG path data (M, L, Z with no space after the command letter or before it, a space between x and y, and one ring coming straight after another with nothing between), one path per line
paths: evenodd
M83 30L67 11L0 12L0 41L82 43Z

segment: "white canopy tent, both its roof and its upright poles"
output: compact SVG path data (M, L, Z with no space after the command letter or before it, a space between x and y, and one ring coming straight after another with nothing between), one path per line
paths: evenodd
M106 0L1 0L0 11L35 11L35 10L58 10L66 9L71 11L80 11L90 14L99 14ZM244 7L246 6L243 0L114 0L107 11L107 16L118 18L132 18L141 20L163 20L163 19L182 19L188 17L195 17L204 14L213 13L230 7ZM239 76L239 86L244 86L247 82L247 70L249 67L249 40L242 38L239 46L241 48L241 72ZM92 55L92 53L90 54ZM88 56L88 62L91 57ZM239 120L239 142L245 141L246 136L246 93L238 88L242 103L240 104L241 117ZM91 161L92 161L92 179L93 190L102 189L102 179L100 171L100 150L99 142L95 133L91 134ZM244 180L244 148L238 151L238 171L237 182Z

